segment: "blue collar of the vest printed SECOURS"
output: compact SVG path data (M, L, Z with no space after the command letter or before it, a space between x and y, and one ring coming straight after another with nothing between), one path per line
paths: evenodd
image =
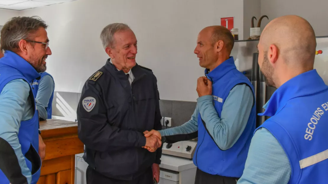
M287 101L308 96L328 90L328 86L319 76L316 69L299 74L282 84L265 104L265 111L259 113L259 116L273 116L280 111Z

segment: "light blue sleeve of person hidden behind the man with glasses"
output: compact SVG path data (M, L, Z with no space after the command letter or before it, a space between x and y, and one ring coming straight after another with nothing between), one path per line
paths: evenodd
M53 82L53 79L49 75L45 75L39 81L39 88L35 97L35 101L36 101L36 107L39 111L39 117L44 120L48 119L46 108L48 107L48 103L54 88L55 88L55 84Z

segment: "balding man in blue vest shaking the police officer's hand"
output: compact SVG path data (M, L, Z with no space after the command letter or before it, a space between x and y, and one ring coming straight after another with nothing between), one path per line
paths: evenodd
M197 81L197 106L191 120L155 134L173 143L198 137L195 184L236 184L244 170L256 127L254 88L230 57L231 32L223 26L202 29L194 53L205 76Z

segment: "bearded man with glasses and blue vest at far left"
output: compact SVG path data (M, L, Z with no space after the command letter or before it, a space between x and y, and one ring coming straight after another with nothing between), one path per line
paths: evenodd
M47 27L38 17L13 17L1 29L0 184L36 184L40 177L45 145L30 82L51 55Z

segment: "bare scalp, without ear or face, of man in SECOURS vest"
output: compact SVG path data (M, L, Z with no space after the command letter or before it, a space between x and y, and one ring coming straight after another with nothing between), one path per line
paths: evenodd
M264 50L276 45L286 64L313 69L316 36L309 22L299 16L287 15L271 21L263 29L260 44Z

